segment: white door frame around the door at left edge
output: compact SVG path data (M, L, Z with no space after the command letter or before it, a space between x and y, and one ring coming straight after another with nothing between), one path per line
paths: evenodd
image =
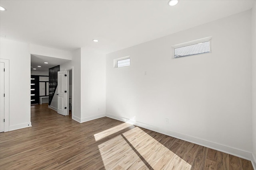
M4 63L4 132L9 131L9 100L10 100L10 93L9 93L9 60L7 59L0 59L0 62Z

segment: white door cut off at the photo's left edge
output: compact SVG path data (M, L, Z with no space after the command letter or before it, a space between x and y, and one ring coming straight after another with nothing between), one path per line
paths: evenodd
M4 132L4 63L0 62L0 132Z

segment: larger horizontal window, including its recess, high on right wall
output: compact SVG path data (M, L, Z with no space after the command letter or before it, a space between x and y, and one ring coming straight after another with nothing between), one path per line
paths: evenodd
M211 52L211 37L190 41L174 47L174 58Z

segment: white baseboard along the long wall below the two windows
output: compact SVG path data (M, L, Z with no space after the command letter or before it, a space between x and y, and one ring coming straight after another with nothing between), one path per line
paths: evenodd
M125 117L119 117L119 116L111 115L111 114L108 114L108 113L106 113L106 117L110 117L112 119L117 119L119 121L129 123L129 119L127 119ZM203 147L208 147L208 148L211 148L211 149L214 149L214 150L225 152L227 154L238 156L240 158L244 158L244 159L247 159L247 160L252 160L252 153L248 152L248 151L245 151L245 150L240 150L240 149L228 147L228 146L225 146L225 145L221 145L221 144L214 143L214 142L211 142L211 141L206 141L204 139L199 139L199 138L196 138L196 137L192 137L192 136L185 135L185 134L182 134L182 133L177 133L177 132L174 132L174 131L170 131L168 129L148 125L146 123L142 123L142 122L138 122L138 121L135 121L134 125L136 125L138 127L143 127L145 129L149 129L149 130L152 130L152 131L155 131L155 132L158 132L158 133L162 133L164 135L175 137L175 138L181 139L183 141L188 141L190 143L195 143L195 144L201 145Z

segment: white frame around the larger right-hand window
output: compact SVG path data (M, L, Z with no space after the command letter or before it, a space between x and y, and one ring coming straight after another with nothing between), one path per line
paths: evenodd
M186 55L186 56L181 56L181 57L175 57L175 49L180 48L180 47L186 47L189 45L194 45L194 44L198 44L198 43L204 43L210 41L210 51L207 53L199 53L199 54L192 54L192 55ZM202 54L208 54L208 53L212 53L212 37L205 37L202 39L197 39L194 41L188 41L186 43L181 43L181 44L177 44L177 45L173 45L172 46L172 58L173 59L179 59L179 58L184 58L184 57L190 57L190 56L194 56L194 55L202 55Z

